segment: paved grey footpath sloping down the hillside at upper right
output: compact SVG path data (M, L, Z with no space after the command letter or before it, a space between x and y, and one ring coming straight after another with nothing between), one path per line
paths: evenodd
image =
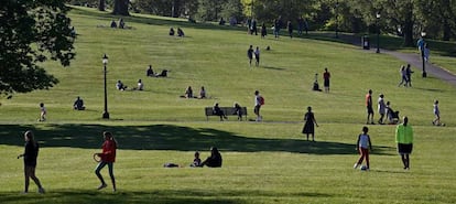
M349 42L354 45L361 47L361 40L355 37L354 35L339 35L343 41ZM377 47L371 47L371 50L377 50ZM389 50L382 50L380 49L380 53L389 54L391 56L394 56L401 61L406 62L408 64L412 65L412 67L415 68L415 73L422 73L423 62L421 60L421 56L419 54L413 53L401 53L395 51L389 51ZM456 75L453 73L449 73L448 71L438 67L431 63L425 63L425 71L428 75L432 75L433 77L441 78L442 80L445 80L449 83L450 85L456 87Z

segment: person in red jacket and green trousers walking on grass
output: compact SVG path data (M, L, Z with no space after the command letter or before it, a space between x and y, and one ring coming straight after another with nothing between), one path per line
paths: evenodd
M116 189L116 179L113 175L113 163L116 162L116 150L117 150L117 141L113 138L112 133L109 131L102 132L105 142L102 143L102 152L96 153L98 157L101 158L101 161L98 163L97 168L95 169L95 174L97 174L98 179L101 182L101 185L98 186L98 190L105 189L108 186L102 175L100 173L101 169L108 165L109 169L109 176L111 178L112 182L112 191L117 191Z

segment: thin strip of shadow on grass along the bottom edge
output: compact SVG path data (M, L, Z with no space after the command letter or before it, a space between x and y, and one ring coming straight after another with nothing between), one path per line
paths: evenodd
M329 197L332 195L322 193L278 193L268 191L203 191L203 190L155 190L155 191L119 191L117 193L101 191L69 191L57 190L44 195L37 193L20 194L17 192L0 193L2 203L35 203L48 204L58 201L58 203L84 203L84 204L102 204L102 203L161 203L161 204L180 204L180 203L200 203L200 204L235 204L246 203L242 200L252 200L259 197L264 200L269 197L274 201L289 200L290 197Z

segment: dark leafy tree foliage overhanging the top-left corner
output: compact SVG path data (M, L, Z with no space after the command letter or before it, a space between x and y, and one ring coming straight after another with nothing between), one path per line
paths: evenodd
M68 66L75 53L64 1L0 2L0 94L47 89L57 78L40 66L47 60Z

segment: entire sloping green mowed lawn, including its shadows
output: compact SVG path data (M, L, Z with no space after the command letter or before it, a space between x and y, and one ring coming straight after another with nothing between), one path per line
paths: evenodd
M247 35L240 29L187 24L166 18L127 18L132 30L111 30L111 17L75 9L78 39L72 67L46 64L61 83L51 90L15 95L0 106L1 203L455 203L453 162L454 86L414 75L413 87L397 87L403 62L359 47L311 39ZM186 37L167 35L182 26ZM262 49L261 66L250 68L250 44ZM265 46L272 50L267 52ZM109 112L101 120L101 56L107 53ZM170 69L167 78L145 78L146 65ZM324 67L332 93L312 92L315 73ZM419 72L417 72L419 73ZM119 92L142 78L144 92ZM209 99L180 98L187 86L208 90ZM322 83L321 83L322 85ZM410 171L395 153L394 126L369 126L374 150L371 171L351 167L362 128L365 94L371 88L408 115L415 129ZM206 121L204 107L238 101L253 118L253 92L265 98L264 122ZM87 110L73 111L76 96ZM432 103L439 99L447 127L431 126ZM40 101L48 121L36 122ZM301 135L302 118L312 106L321 125L317 142ZM376 119L378 116L376 115ZM47 193L23 189L22 133L32 129L41 143L37 176ZM119 191L97 191L91 155L100 151L101 132L119 141L115 174ZM192 169L195 150L202 158L216 146L224 168ZM185 168L165 169L174 162ZM105 179L109 181L106 170ZM110 186L110 183L109 183Z

